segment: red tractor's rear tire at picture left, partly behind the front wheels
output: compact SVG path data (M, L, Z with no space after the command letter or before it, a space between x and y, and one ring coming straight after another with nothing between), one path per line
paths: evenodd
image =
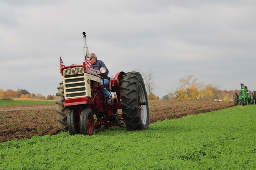
M68 115L68 111L70 110L70 107L63 106L63 104L65 103L63 82L60 83L60 86L58 87L58 93L56 93L56 96L57 96L57 99L55 103L56 103L58 127L60 130L66 132L68 131L67 115Z

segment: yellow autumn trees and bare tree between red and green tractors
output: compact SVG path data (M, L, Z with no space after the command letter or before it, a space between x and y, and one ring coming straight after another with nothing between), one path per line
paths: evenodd
M140 72L139 68L134 69ZM141 72L144 78L146 91L148 94L148 100L160 100L158 96L154 94L157 90L157 86L154 79L154 72L149 69L149 72ZM168 94L162 97L162 100L195 100L200 97L202 100L233 100L233 94L239 90L220 90L217 84L198 83L197 78L194 75L188 75L186 78L180 78L178 87L171 87ZM250 90L249 90L250 91ZM251 92L251 91L250 91Z

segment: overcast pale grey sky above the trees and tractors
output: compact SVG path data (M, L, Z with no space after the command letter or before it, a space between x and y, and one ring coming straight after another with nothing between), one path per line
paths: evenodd
M109 76L154 73L156 96L194 75L256 90L255 0L0 0L0 88L55 95L59 55L82 64L83 35Z

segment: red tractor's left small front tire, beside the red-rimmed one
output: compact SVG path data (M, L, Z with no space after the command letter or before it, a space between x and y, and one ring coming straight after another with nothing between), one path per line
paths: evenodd
M79 115L77 110L68 111L68 131L70 135L75 135L79 133Z

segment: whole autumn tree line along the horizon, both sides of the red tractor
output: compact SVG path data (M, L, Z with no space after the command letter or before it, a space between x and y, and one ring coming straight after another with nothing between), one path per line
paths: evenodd
M139 68L134 69L134 71L140 72ZM159 96L156 96L154 92L157 90L157 85L154 79L154 72L149 69L149 72L140 72L144 78L144 83L146 91L148 94L148 100L161 100ZM250 90L249 90L250 91ZM196 97L200 96L202 100L233 100L233 94L240 92L239 90L220 90L218 85L198 83L197 78L194 75L188 75L186 78L180 78L179 86L174 90L168 91L168 94L162 97L162 100L195 100ZM250 91L251 92L251 91ZM32 99L46 99L46 100L56 100L55 95L49 94L48 96L43 96L42 94L30 94L28 90L18 89L17 91L8 89L4 91L0 88L0 100L10 100L12 98L32 98Z

